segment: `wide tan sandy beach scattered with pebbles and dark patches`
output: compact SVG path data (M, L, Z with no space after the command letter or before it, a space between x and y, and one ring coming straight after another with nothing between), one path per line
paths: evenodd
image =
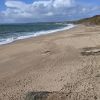
M0 100L100 100L100 26L0 46Z

